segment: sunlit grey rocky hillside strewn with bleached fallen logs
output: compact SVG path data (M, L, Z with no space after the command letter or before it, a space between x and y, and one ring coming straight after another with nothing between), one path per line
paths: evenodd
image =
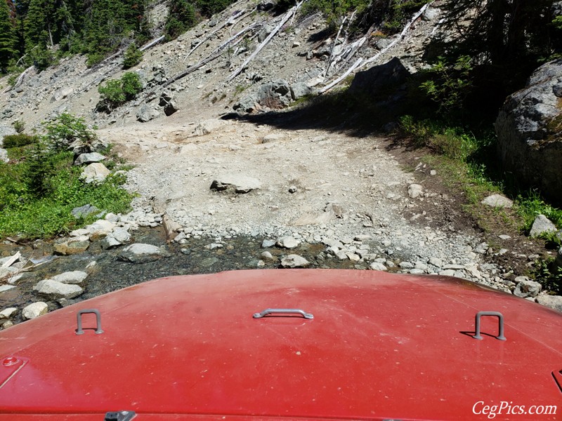
M218 116L232 111L244 96L271 81L286 81L294 86L297 97L322 90L360 58L363 69L393 57L412 70L419 69L424 66L424 45L440 36L439 1L424 8L403 35L393 38L379 37L373 30L348 39L345 25L336 38L318 14L303 17L297 11L296 15L273 15L264 10L270 6L267 2L237 1L178 39L148 48L141 64L129 70L141 76L142 95L109 115L96 112L98 86L122 76L121 55L91 69L80 56L60 60L40 73L30 68L15 88L4 88L1 94L3 132L14 119L37 126L61 112L84 116L100 128L124 126L138 119L164 119L160 105L165 102L160 99L163 94L173 98L186 116L193 115L194 109L198 115ZM187 76L169 83L190 70ZM7 81L0 84L6 86ZM292 100L290 94L288 100Z

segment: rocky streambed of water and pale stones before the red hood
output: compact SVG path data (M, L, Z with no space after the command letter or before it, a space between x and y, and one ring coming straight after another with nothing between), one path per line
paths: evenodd
M379 234L337 236L285 232L263 235L218 233L204 227L178 228L174 240L155 213L106 215L72 236L53 242L0 246L0 326L33 319L60 307L164 276L235 269L319 267L374 269L410 274L440 274L469 279L562 311L562 297L544 294L525 276L511 280L501 267L479 256L485 243L465 246L461 255L407 255ZM435 233L429 235L435 238ZM439 238L437 237L436 243ZM470 250L469 250L470 248Z

